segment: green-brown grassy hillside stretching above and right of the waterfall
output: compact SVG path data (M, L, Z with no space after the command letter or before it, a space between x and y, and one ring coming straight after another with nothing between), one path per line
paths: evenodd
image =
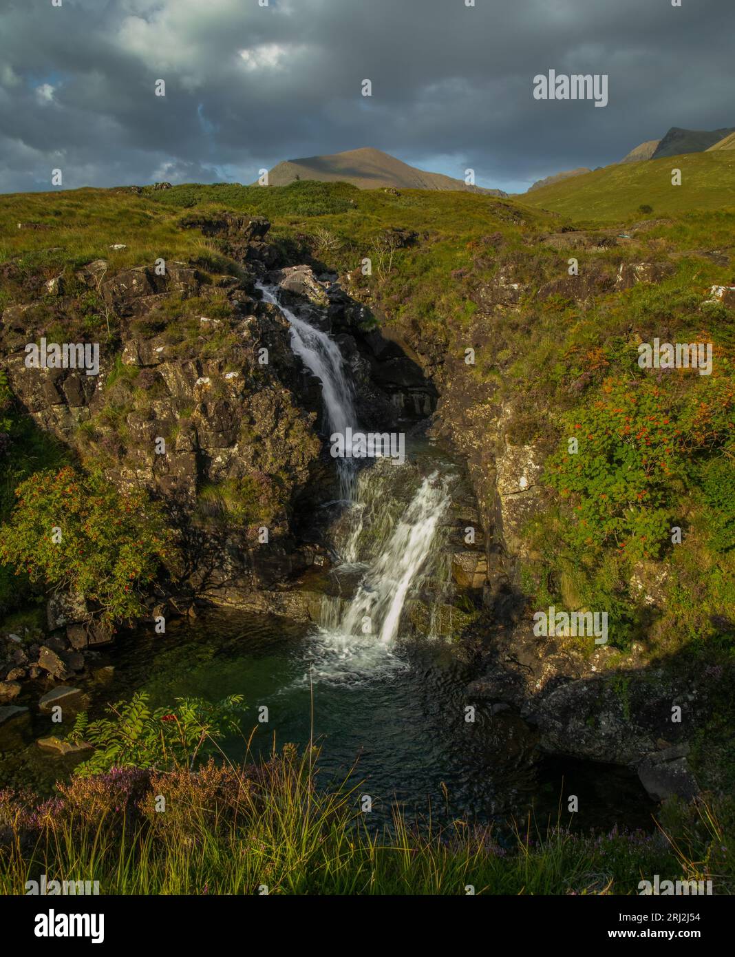
M185 185L159 191L82 189L5 196L0 198L0 229L6 237L0 247L0 305L42 300L45 280L62 273L71 276L79 265L98 257L109 260L110 275L151 263L157 256L194 260L204 269L211 265L212 272L228 272L234 264L216 240L197 229L182 229L181 223L208 211L266 215L273 223L271 241L290 261L349 273L352 295L367 302L377 321L397 326L447 381L455 374L447 371L454 357L463 356L467 345L476 346L477 365L460 364L458 400L472 402L477 393L481 403L481 394L490 390L494 403L511 410L506 428L514 445L546 442L545 455L557 471L549 472L545 484L549 494L558 488L547 521L529 530L545 558L538 568L527 569L524 588L548 603L557 598L561 603L560 590L589 607L602 603L619 623L615 640L621 646L641 631L649 635L652 649L686 644L721 634L713 618L735 620L735 515L729 491L724 494L732 471L727 468L732 453L725 434L731 428L727 415L735 322L732 309L706 303L711 285L728 284L732 278L727 250L735 246L735 211L722 209L727 192L723 174L735 182L728 155L680 157L680 188L667 185L670 161L652 161L539 189L523 197L524 205L473 193L402 190L396 195L316 182L268 189ZM729 191L732 194L732 186ZM552 193L565 197L554 204L557 211L535 206L537 196L541 206L551 206ZM668 211L664 199L670 203ZM655 221L631 231L632 238L619 238L626 222L643 218L637 210L644 203L653 206L653 217L648 218ZM675 203L680 210L671 208ZM615 209L614 229L590 232L577 253L579 234L568 232L572 213L605 222ZM24 228L18 229L18 223ZM393 230L400 231L402 239L389 253L385 237ZM120 243L126 248L110 249ZM373 261L371 277L360 275L365 256ZM579 256L578 283L568 278L568 256ZM618 289L614 278L620 265L641 262L661 267L657 280ZM83 306L73 300L64 304L72 312ZM86 328L95 316L85 313L83 319ZM637 367L635 343L656 336L670 342L702 337L713 342L716 374L677 375L653 383ZM608 491L585 491L587 478L567 476L568 464L550 454L563 447L569 429L587 421L590 409L597 412L589 434L598 428L605 432L612 421L605 415L614 415L616 398L630 389L656 400L667 422L679 429L674 436L678 468L651 484L645 458L642 463L636 458L643 484L634 489L630 475L622 473L615 494L623 498L615 508L606 505L601 510ZM706 415L697 411L698 401L705 403ZM492 428L488 421L488 434ZM479 434L477 441L485 441L485 435ZM612 460L629 455L625 439L621 442L608 449ZM636 445L639 454L645 456L645 449ZM596 461L581 456L583 460ZM603 476L609 467L603 468ZM650 506L635 499L635 508L627 509L625 496L639 495L649 486ZM570 538L572 525L564 518L570 514L569 496L577 512L580 507L591 509L586 519L590 542ZM718 521L722 519L719 524L710 521L713 508ZM674 550L664 546L665 537L663 545L660 539L660 528L672 516L686 517L694 529L686 544ZM651 523L656 524L657 547L638 547L652 534ZM654 623L640 619L630 593L639 560L662 561L667 569L671 593ZM710 574L715 568L720 573ZM718 640L730 647L729 637Z

